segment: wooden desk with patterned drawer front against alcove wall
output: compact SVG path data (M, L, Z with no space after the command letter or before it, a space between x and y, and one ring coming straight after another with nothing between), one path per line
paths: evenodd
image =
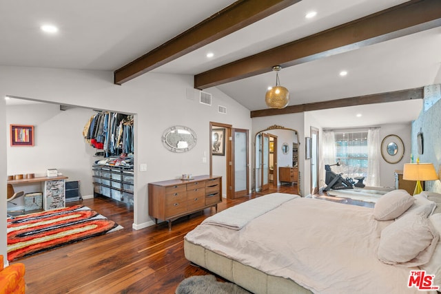
M65 179L67 176L23 178L20 180L8 180L11 185L27 185L44 183L43 209L57 209L65 207Z

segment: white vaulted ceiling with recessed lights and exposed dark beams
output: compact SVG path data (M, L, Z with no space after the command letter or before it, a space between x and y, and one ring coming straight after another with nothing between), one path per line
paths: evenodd
M341 127L349 115L353 126L415 119L421 87L441 83L439 0L0 5L0 65L111 70L122 86L145 72L192 74L196 88L218 87L252 116L280 113L263 110L275 83L273 65L283 66L280 83L291 92L281 113L340 107L329 127ZM316 17L306 19L313 10ZM58 25L59 34L43 36L45 22ZM208 59L208 52L214 56ZM346 76L339 76L342 70ZM393 103L396 118L384 111L385 102ZM365 103L380 104L375 111L360 106Z

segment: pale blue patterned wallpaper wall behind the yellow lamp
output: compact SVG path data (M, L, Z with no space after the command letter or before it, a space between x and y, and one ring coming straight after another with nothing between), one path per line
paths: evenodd
M441 178L441 91L440 85L424 87L424 107L412 123L411 150L414 160L432 162ZM417 135L423 133L424 150L418 154ZM424 184L425 191L441 193L441 181L431 180Z

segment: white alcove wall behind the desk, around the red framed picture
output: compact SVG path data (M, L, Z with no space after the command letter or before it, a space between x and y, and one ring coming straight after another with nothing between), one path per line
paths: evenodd
M55 168L63 176L68 176L67 181L80 181L81 196L93 195L91 166L98 158L93 157L96 150L85 143L82 132L94 114L96 112L92 109L81 107L61 111L59 105L52 103L7 106L7 126L34 126L33 147L11 147L7 134L8 175L33 173L45 176L46 169ZM25 193L39 188L20 186Z

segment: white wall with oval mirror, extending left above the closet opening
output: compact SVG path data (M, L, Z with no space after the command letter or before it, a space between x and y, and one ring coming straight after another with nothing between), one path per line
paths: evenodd
M148 216L148 182L178 178L185 173L209 174L209 160L203 162L203 155L209 154L209 121L243 129L252 127L249 110L223 92L216 88L205 90L213 94L210 107L188 99L187 89L193 89L193 76L149 73L120 86L113 84L112 72L0 67L0 93L4 95L135 114L136 229L154 223ZM227 114L219 114L218 105L227 107ZM165 149L161 136L172 125L192 128L198 136L196 147L185 154ZM1 125L3 138L5 132L6 122ZM138 171L142 163L147 164L145 172ZM6 179L6 165L2 172ZM3 205L6 202L0 203L5 211Z

